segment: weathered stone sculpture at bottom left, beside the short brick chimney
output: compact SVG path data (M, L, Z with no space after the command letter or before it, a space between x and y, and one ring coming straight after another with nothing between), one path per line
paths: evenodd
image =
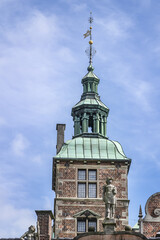
M39 239L39 234L40 234L40 231L39 231L39 223L37 222L37 233L36 233L36 228L31 225L29 228L28 228L28 231L25 232L21 237L20 239L21 240L38 240Z

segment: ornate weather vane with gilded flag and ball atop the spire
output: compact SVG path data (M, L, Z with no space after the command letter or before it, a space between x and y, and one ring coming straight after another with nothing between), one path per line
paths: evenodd
M85 34L83 34L84 38L90 36L90 41L89 41L89 47L86 49L86 54L89 57L89 64L92 65L92 58L96 53L96 50L92 47L93 41L92 41L92 23L93 23L93 17L92 17L92 12L90 12L90 17L89 17L89 23L90 23L90 30L87 30Z

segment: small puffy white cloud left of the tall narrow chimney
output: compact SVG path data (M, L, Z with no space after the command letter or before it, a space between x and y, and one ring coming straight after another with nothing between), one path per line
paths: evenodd
M21 133L18 133L11 143L11 149L15 155L23 156L29 145L29 141Z

